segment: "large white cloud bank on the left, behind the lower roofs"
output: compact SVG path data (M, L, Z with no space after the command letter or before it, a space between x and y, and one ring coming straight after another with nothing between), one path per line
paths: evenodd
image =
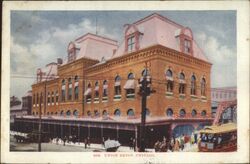
M38 24L49 23L39 16L32 16L31 20ZM65 59L70 41L85 33L95 33L95 31L95 23L89 19L82 19L79 23L69 24L66 27L48 26L48 28L34 33L35 36L13 33L11 37L11 74L33 76L34 78L20 78L18 81L13 78L11 80L11 94L18 97L24 95L27 90L31 89L31 85L35 81L37 68L45 67L46 64L56 61L56 58ZM98 26L98 34L117 38L117 35L109 33L105 27L100 25ZM24 40L31 41L28 44L23 42Z

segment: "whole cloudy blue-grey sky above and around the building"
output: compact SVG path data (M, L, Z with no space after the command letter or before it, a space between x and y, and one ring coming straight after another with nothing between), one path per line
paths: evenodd
M37 68L66 59L70 41L97 31L120 43L125 24L152 13L192 29L213 64L211 87L237 85L235 11L11 11L10 96L31 90Z

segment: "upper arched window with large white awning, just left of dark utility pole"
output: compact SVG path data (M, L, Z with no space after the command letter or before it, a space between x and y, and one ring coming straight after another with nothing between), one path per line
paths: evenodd
M135 98L135 76L133 73L128 74L128 80L124 85L124 89L126 89L127 98Z

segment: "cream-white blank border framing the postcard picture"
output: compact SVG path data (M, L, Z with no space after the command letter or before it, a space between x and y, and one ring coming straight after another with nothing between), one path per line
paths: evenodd
M11 10L237 10L238 142L233 153L157 153L154 157L94 157L90 152L9 152ZM216 21L216 20L215 20ZM249 162L249 1L3 2L1 163L237 163ZM125 154L125 153L117 153ZM131 153L127 153L131 154Z

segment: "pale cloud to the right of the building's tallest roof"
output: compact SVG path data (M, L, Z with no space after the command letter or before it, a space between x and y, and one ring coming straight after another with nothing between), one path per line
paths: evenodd
M212 65L212 87L236 86L237 53L236 50L219 42L213 36L201 32L196 35L198 43L206 53Z

